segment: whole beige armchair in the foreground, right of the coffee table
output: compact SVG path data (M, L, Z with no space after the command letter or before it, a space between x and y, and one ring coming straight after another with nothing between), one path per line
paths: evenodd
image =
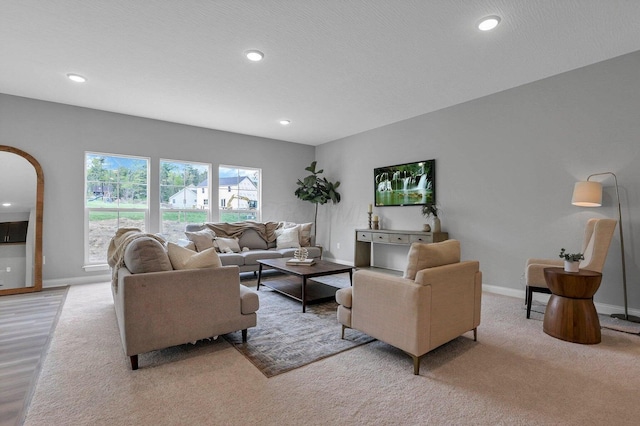
M414 243L403 277L358 270L353 286L336 292L338 321L395 346L413 358L419 374L427 352L480 324L482 273L460 262L460 242Z

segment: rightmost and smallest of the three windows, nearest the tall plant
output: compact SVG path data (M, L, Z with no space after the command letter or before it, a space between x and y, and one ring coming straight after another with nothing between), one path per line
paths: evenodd
M260 169L220 166L220 222L260 220Z

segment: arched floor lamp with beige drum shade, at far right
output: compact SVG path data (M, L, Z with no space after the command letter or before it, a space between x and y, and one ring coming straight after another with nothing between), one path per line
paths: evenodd
M622 236L622 212L620 210L620 193L618 192L618 178L612 172L595 173L589 175L586 181L576 182L573 188L571 204L580 207L600 207L602 205L602 184L590 181L594 176L611 175L616 183L616 197L618 198L618 229L620 230L620 252L622 257L622 288L624 290L624 314L612 314L613 318L632 322L639 322L640 318L629 315L627 305L627 268L624 261L624 237Z

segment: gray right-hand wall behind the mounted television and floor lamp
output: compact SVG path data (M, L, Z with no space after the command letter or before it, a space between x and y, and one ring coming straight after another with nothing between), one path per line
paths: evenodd
M443 230L480 261L485 285L524 294L528 257L580 249L590 217L617 217L613 179L604 206L570 203L591 173L618 176L629 305L640 309L640 52L321 145L316 159L341 181L342 202L321 208L327 256L353 261L353 230L367 226L373 168L436 159ZM454 81L451 84L455 84ZM374 208L383 226L419 230L419 207ZM340 243L340 249L337 244ZM404 254L390 251L398 269ZM623 304L620 238L612 241L595 300Z

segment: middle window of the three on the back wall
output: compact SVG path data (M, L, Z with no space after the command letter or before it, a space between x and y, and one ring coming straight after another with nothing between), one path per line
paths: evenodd
M187 223L210 220L210 164L160 160L160 232L169 241L185 238Z

